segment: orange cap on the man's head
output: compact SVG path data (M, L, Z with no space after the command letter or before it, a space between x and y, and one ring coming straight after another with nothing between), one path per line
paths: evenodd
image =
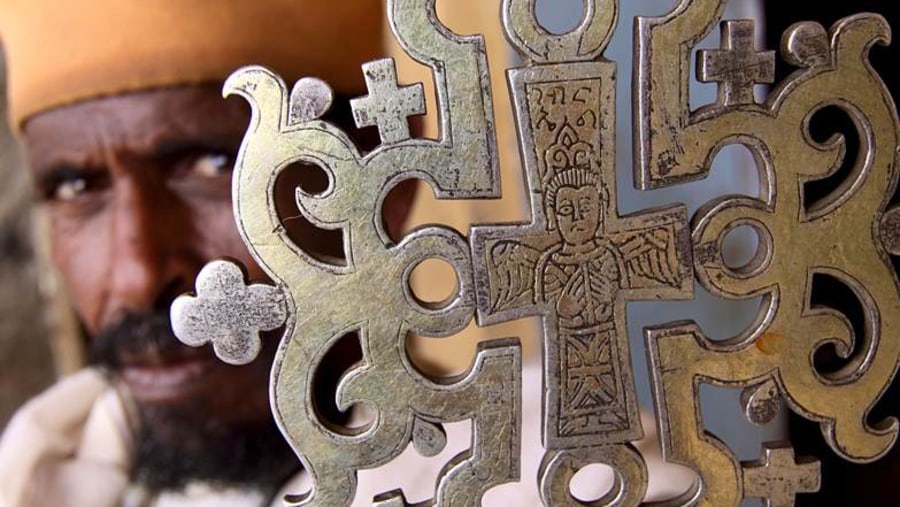
M384 53L383 11L384 0L0 0L10 120L250 64L358 93L360 65Z

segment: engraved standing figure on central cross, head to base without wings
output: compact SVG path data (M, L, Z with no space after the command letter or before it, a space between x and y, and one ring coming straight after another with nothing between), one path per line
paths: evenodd
M557 174L547 189L548 217L562 241L538 261L535 289L555 307L563 342L562 403L574 416L561 421L566 435L628 426L613 322L627 272L618 247L602 236L604 193L597 175L581 168Z

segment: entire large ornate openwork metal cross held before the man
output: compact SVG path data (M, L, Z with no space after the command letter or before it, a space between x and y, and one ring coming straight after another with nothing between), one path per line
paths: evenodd
M691 110L694 47L721 21L724 1L683 0L667 16L636 24L635 176L649 189L704 177L724 146L756 156L758 197L723 196L689 222L682 206L622 216L616 200L616 65L603 58L618 18L614 0L586 1L569 34L550 34L534 0L506 0L508 38L525 58L509 71L523 171L531 196L526 224L476 225L470 238L442 227L417 230L394 244L381 208L400 181L421 178L438 198L496 197L499 189L493 104L483 41L442 26L434 0L389 0L391 27L403 48L429 66L437 85L441 135L412 138L408 120L425 111L419 83L397 82L392 60L364 66L369 93L352 101L359 126L378 128L382 145L363 154L320 120L333 94L323 82L289 91L271 72L236 72L226 93L246 98L253 119L234 175L235 216L251 252L274 286L247 285L238 267L214 263L198 294L173 307L176 332L192 345L213 342L220 357L246 362L259 331L284 325L272 385L276 419L314 487L291 505L346 505L356 473L412 445L424 456L446 446L442 423L471 419L471 449L451 460L436 484L438 505L480 505L493 486L518 479L521 358L514 341L483 344L462 377L427 378L404 350L408 332L449 336L477 315L489 325L524 316L544 322L543 444L538 489L547 505L637 505L647 467L631 444L643 435L625 309L629 301L685 299L695 278L714 295L762 296L754 324L713 342L693 323L647 331L647 354L664 455L699 474L690 491L665 505L739 505L762 497L792 505L819 487L819 465L795 458L789 444L767 444L741 463L704 428L702 384L744 390L749 420L771 421L782 403L821 423L842 457L866 462L893 445L897 423L870 427L868 411L891 382L900 357L898 283L889 253L900 252L900 212L885 212L896 185L898 121L894 104L867 61L889 30L877 16L838 23L830 32L793 26L782 49L797 71L760 102L754 86L774 81L774 52L754 44L752 21L722 24L720 49L696 53L700 81L716 83L716 103ZM805 182L837 170L841 138L817 143L815 113L842 109L856 125L862 154L847 180L807 199ZM274 209L275 178L301 161L322 168L328 189L297 190L301 213L340 228L346 264L330 264L295 245ZM726 262L725 237L748 226L759 237L744 266ZM440 304L419 301L409 276L427 259L447 261L457 293ZM847 285L861 302L863 333L836 310L811 304L814 277ZM376 416L363 427L324 420L312 400L315 374L334 344L357 333L364 360L344 376L342 409L365 404ZM814 353L836 347L845 364L819 371ZM603 498L577 500L572 477L607 464L617 481ZM526 478L526 480L531 480ZM373 499L407 505L402 492Z

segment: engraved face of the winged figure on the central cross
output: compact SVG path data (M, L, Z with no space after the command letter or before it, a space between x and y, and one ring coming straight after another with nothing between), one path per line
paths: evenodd
M594 239L603 219L600 204L600 194L592 185L557 191L556 221L566 243L583 245Z

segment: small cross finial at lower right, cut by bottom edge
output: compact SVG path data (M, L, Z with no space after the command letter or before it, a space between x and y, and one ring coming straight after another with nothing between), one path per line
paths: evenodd
M797 493L819 491L820 463L794 460L791 447L765 444L762 459L744 465L744 498L763 498L767 507L791 507Z

